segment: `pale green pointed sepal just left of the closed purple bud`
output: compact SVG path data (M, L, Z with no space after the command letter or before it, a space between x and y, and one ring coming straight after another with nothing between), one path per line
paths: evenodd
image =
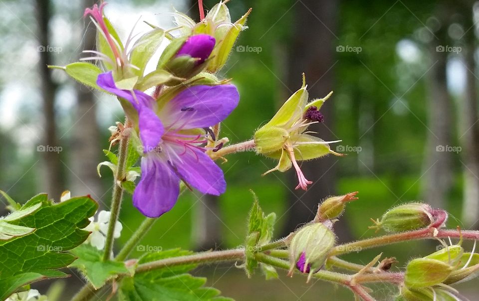
M165 37L165 31L161 28L155 28L144 35L142 35L133 45L133 51L131 52L130 62L140 70L133 69L133 72L142 76L146 64L151 59L153 54L160 47L163 38Z

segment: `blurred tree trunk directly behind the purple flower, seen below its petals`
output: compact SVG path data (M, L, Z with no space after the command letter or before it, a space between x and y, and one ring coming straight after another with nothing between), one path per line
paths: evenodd
M189 0L186 9L194 20L198 20L198 1ZM205 8L210 7L206 6ZM218 249L222 240L220 198L215 195L204 194L199 196L193 210L192 241L196 250Z

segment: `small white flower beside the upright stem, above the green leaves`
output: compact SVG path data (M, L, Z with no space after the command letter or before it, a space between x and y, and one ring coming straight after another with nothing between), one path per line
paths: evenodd
M106 234L108 233L108 224L110 221L110 211L102 210L98 213L97 221L94 221L94 217L90 217L90 224L85 227L85 230L91 231L90 236L85 241L90 243L93 247L98 250L103 250L105 247ZM120 237L121 230L123 229L122 224L119 221L116 221L115 232L113 232L113 237Z

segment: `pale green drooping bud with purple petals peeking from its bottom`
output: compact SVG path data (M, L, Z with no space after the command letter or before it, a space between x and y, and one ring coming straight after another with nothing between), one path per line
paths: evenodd
M300 228L289 245L291 267L288 275L292 276L296 266L301 272L309 273L309 281L323 267L335 240L333 231L323 223L312 223Z

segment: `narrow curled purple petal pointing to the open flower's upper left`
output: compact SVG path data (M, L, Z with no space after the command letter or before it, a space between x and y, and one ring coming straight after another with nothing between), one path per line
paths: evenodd
M153 99L153 97L141 92L140 90L133 90L135 94L133 95L131 91L118 89L115 85L115 81L113 79L113 74L111 73L111 71L98 74L96 84L103 90L106 90L112 94L115 94L118 97L128 100L137 111L139 111L140 106L147 106L151 109L155 104L155 100Z

